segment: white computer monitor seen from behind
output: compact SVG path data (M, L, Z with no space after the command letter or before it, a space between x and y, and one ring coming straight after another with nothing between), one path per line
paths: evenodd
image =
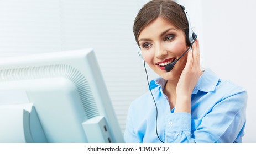
M92 49L0 58L0 142L124 142Z

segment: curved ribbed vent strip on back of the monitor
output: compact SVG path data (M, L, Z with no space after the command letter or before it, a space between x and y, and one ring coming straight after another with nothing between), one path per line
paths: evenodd
M88 119L99 116L90 85L85 76L70 65L48 65L41 67L28 67L0 70L0 81L42 79L52 77L69 79L77 87L83 109Z

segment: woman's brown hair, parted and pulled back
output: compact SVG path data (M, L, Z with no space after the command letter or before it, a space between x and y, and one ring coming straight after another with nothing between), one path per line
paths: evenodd
M177 29L183 30L185 35L188 36L189 24L187 23L186 15L181 5L172 0L153 0L139 10L134 20L133 34L138 45L140 32L158 17L163 17L170 21ZM186 43L190 45L188 39L186 39Z

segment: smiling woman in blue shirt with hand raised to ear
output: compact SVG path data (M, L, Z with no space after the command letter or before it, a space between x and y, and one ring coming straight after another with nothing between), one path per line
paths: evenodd
M242 142L247 92L210 69L201 71L198 40L181 57L191 45L188 20L171 0L150 1L135 18L144 62L160 77L130 105L126 142Z

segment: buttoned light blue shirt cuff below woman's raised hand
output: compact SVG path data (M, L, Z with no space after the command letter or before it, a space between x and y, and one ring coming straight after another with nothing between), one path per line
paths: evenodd
M186 112L171 113L166 118L166 133L174 131L191 132L191 114Z

